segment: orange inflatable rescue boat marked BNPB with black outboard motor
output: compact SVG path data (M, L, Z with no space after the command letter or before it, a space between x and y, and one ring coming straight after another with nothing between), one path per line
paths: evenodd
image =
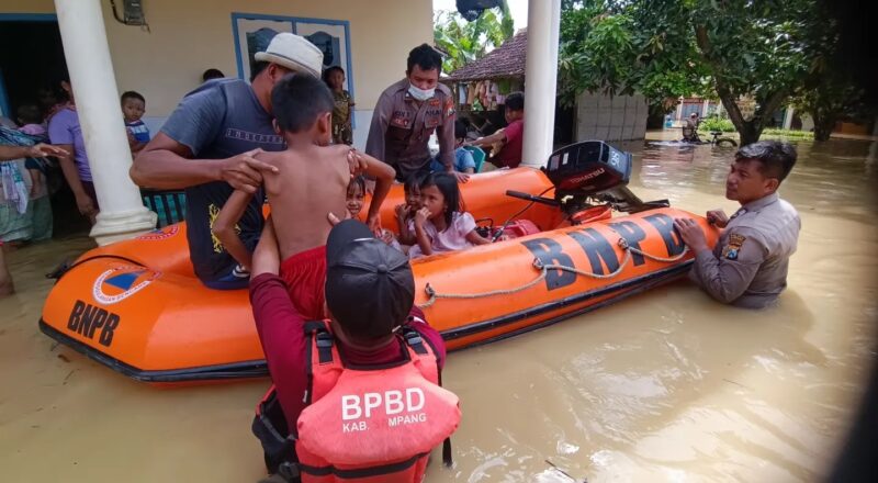
M543 170L473 176L465 210L513 239L413 261L416 301L449 349L542 327L618 302L688 270L673 220L707 222L624 184L631 155L600 142L552 154ZM403 202L394 186L385 227ZM616 215L614 215L614 211ZM524 236L521 236L524 235ZM99 247L59 271L40 328L115 371L151 383L262 377L267 368L246 290L202 285L185 224Z

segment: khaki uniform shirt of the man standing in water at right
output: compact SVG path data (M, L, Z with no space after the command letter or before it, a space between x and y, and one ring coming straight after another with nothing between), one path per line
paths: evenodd
M800 228L796 209L777 193L747 203L729 220L713 251L696 255L689 277L720 302L770 305L787 287Z

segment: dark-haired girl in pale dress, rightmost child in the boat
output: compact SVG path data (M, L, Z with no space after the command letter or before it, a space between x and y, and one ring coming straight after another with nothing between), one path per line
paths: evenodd
M461 211L457 179L444 172L434 172L420 182L423 207L415 213L417 244L408 251L418 258L443 251L453 251L475 245L487 245L489 239L475 231L473 215Z

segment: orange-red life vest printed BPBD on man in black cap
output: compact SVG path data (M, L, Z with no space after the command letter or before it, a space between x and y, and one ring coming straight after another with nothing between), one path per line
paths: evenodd
M460 402L439 385L436 353L420 334L403 328L405 358L399 362L351 367L339 356L327 323L309 322L305 329L311 339L309 404L299 417L296 436L288 438L296 460L288 459L281 474L302 483L420 482L430 451L442 440L443 459L450 463L448 438L460 424ZM257 424L266 419L272 392L254 422L270 467Z

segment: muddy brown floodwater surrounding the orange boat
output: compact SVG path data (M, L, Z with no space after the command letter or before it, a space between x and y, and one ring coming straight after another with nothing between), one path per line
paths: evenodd
M632 189L695 213L724 200L733 151L624 145ZM685 281L453 353L455 465L427 481L818 481L875 358L876 159L870 143L798 143L781 196L802 217L779 306L746 312ZM161 390L37 329L58 261L85 237L9 255L0 301L0 473L10 482L255 482L267 380ZM436 461L435 459L435 462Z

